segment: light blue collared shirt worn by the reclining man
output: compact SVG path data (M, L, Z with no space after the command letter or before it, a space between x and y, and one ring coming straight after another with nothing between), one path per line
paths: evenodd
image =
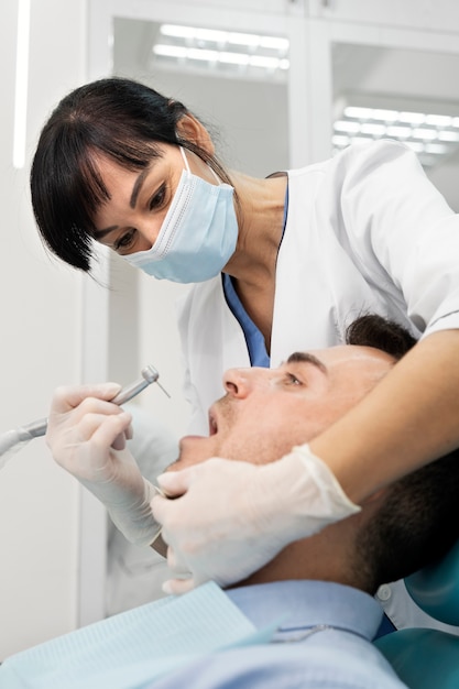
M371 643L382 616L371 595L321 581L227 594L259 628L283 620L273 641L206 655L155 681L155 689L406 689Z

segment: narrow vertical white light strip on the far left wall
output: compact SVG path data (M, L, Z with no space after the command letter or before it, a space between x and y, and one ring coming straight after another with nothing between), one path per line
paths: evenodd
M28 130L30 0L18 0L13 166L24 167Z

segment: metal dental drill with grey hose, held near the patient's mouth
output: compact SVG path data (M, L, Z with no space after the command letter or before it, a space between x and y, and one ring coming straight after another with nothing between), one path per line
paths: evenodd
M118 395L116 395L111 402L113 404L122 405L135 397L142 390L145 390L152 383L157 383L164 394L170 397L171 395L159 382L160 374L154 367L149 364L141 371L142 378L134 381L130 385L127 385ZM0 469L4 467L13 452L17 452L21 447L26 445L32 438L40 438L46 434L47 418L41 418L32 422L31 424L24 424L12 430L0 435Z

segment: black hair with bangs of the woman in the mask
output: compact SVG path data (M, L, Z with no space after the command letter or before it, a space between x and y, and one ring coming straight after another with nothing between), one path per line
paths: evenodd
M31 169L33 211L47 249L74 267L90 270L94 217L109 199L97 153L142 171L160 155L157 144L182 145L230 184L215 156L178 136L177 123L187 112L177 100L118 77L63 98L43 127Z

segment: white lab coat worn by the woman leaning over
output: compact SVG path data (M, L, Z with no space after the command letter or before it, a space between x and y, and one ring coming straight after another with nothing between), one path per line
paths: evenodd
M272 367L293 351L341 343L346 327L364 313L395 319L415 337L459 328L459 216L407 146L356 144L287 174ZM178 326L192 429L207 434L223 371L250 365L220 276L186 295Z

